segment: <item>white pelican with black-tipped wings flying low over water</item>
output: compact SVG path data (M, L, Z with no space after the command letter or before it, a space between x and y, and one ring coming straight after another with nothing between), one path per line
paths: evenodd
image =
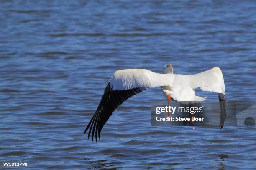
M195 75L173 74L172 65L165 65L162 74L146 69L118 70L111 77L105 88L100 104L87 125L84 133L90 128L88 140L92 130L92 140L95 134L100 139L100 132L104 124L108 121L112 112L125 100L148 88L161 87L162 92L167 97L168 104L171 97L178 102L181 101L204 101L204 97L195 95L196 88L202 91L219 93L221 107L220 125L223 128L225 109L225 84L222 72L219 67ZM221 102L224 101L224 102ZM96 130L96 131L95 131Z

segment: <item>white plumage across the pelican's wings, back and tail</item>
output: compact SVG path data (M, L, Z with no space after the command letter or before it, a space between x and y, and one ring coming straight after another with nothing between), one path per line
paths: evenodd
M225 84L219 67L195 75L159 74L146 69L118 70L110 80L112 90L154 88L161 86L164 95L177 101L204 101L196 96L196 88L225 94Z

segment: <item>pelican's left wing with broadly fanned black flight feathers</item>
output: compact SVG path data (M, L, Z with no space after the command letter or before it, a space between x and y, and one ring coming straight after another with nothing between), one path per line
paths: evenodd
M147 88L171 85L173 79L173 74L158 74L146 69L116 71L105 88L100 104L84 133L90 128L88 139L92 130L92 140L95 134L97 141L97 135L100 139L100 132L112 112L125 100Z

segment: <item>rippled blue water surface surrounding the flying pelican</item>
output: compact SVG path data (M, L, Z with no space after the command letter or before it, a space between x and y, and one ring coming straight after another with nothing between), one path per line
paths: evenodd
M151 101L166 100L159 88L119 107L97 143L83 134L120 69L161 72L171 63L174 73L194 74L218 66L227 100L255 101L255 8L255 1L2 1L1 168L22 161L33 169L255 169L254 127L151 126Z

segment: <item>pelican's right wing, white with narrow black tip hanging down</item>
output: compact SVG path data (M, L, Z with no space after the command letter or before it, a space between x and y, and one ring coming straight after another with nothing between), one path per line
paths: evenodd
M226 119L225 104L225 84L223 74L219 67L213 67L210 70L196 75L189 75L189 85L195 89L200 88L203 91L219 93L220 101L220 128L223 128Z

